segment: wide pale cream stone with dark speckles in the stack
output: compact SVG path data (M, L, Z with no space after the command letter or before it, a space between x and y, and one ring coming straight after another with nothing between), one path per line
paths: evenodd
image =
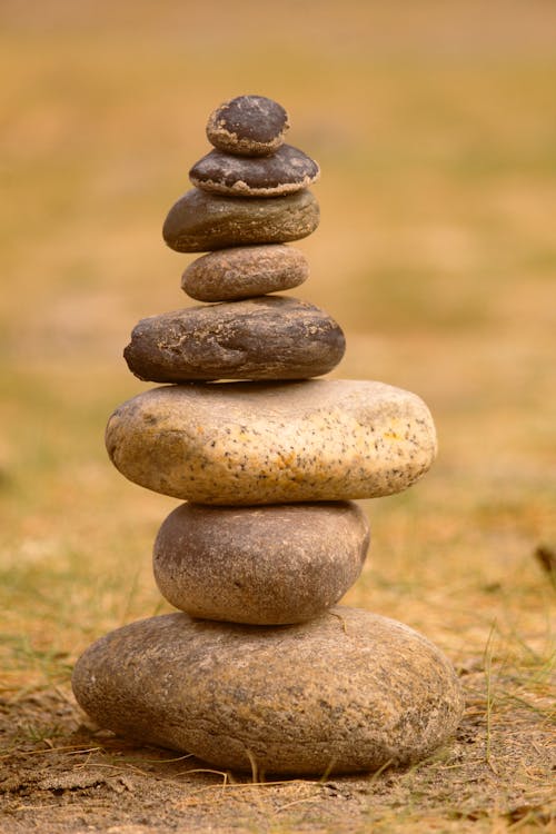
M436 455L419 397L346 379L153 388L116 409L106 443L129 480L230 506L390 495Z

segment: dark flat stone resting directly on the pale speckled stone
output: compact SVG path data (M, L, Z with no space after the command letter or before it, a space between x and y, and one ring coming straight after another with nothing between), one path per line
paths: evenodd
M123 351L139 379L304 379L340 361L346 340L324 310L297 298L261 296L145 318Z

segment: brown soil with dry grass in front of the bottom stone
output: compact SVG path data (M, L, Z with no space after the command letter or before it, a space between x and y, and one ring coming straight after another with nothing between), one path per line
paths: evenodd
M548 831L544 698L510 696L493 709L483 662L469 661L460 674L467 708L446 748L413 768L322 781L254 784L133 745L92 727L69 689L4 701L0 831ZM512 679L500 683L510 689Z

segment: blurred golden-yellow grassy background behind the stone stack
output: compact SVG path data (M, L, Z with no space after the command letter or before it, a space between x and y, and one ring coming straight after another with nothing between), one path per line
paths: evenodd
M113 469L103 428L150 387L121 358L137 320L193 304L179 285L195 256L160 229L210 111L242 93L282 103L288 141L321 166L294 295L344 327L335 376L409 388L438 426L427 477L367 503L374 544L346 602L453 656L494 616L544 639L556 4L2 0L0 70L8 686L63 675L57 657L165 609L150 554L176 502Z

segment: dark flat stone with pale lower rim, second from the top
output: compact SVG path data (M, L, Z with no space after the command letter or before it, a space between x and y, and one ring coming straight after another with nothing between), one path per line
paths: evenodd
M205 191L236 197L278 197L308 188L320 173L302 150L282 145L270 157L235 157L211 150L189 171L189 179Z

